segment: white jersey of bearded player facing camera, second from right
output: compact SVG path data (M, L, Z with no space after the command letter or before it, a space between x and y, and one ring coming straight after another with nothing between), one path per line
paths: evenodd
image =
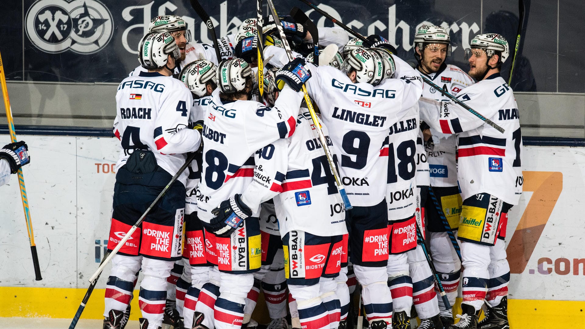
M467 75L455 65L443 64L438 72L429 75L422 73L418 67L417 71L421 76L426 76L426 78L453 96L457 96L463 88L475 83L471 76ZM447 97L426 83L422 89L422 97L438 101L449 101ZM441 131L437 131L432 127L431 134L433 143L428 143L425 149L428 157L428 166L431 170L430 183L438 187L457 186L457 167L455 163L456 137L453 134L443 134Z

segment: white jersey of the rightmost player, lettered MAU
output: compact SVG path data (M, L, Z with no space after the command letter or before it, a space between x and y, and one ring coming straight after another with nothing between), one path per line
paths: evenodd
M457 135L457 177L461 197L489 193L508 204L522 194L522 134L514 93L500 74L464 88L457 99L500 127L504 134L453 103L421 98L421 118L445 134Z

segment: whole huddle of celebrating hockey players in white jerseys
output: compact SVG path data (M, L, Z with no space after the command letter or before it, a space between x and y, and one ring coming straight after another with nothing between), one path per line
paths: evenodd
M257 328L260 289L270 329L353 328L355 309L372 329L509 328L523 179L505 38L474 37L467 75L441 26L418 26L412 68L378 35L320 27L317 53L308 26L263 20L214 47L157 16L140 40L108 249L147 215L112 258L104 329L125 327L141 270L141 329Z

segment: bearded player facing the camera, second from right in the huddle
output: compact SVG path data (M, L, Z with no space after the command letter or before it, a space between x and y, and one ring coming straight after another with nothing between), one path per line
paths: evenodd
M457 96L463 88L473 85L473 79L463 72L462 69L445 64L445 58L450 54L451 46L449 33L443 27L424 24L419 26L417 34L414 37L414 43L414 55L418 61L417 71L421 75L426 76L426 78L453 96ZM425 88L423 88L422 96L438 101L448 101L435 88L428 85L425 85ZM430 183L439 203L439 208L448 209L448 211L443 212L445 213L446 219L448 219L450 229L456 232L459 227L459 213L462 204L459 187L457 186L457 167L455 164L456 136L453 134L443 134L433 128L431 128L430 133L432 139L426 143L428 165L429 169L432 170ZM426 192L422 191L421 193L423 194L422 198L426 200L424 203L425 217L428 219L426 228L429 231L428 240L433 255L433 263L437 274L441 278L441 283L447 293L449 303L454 305L455 298L457 297L457 286L459 286L461 262L459 261L459 257L457 257L455 249L451 246L446 227L439 218L439 213L431 197L425 195ZM422 255L421 261L425 261L424 255ZM430 269L425 272L426 276L431 276ZM430 287L432 287L432 282L428 281L428 286L425 289ZM425 299L423 298L422 300ZM443 325L453 324L452 310L445 308L443 300L438 295L436 299L439 303ZM425 303L434 302L427 300ZM416 303L415 306L417 306ZM418 309L417 313L423 319L421 326L425 322L429 322L426 318L435 315L425 314L424 311Z

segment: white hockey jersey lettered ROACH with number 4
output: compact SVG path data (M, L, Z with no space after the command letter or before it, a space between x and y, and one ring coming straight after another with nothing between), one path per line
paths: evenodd
M185 163L185 154L199 148L201 135L187 128L193 97L183 82L158 72L141 72L122 81L116 93L113 134L120 139L116 170L132 149L150 149L171 175ZM187 173L179 177L185 184Z

